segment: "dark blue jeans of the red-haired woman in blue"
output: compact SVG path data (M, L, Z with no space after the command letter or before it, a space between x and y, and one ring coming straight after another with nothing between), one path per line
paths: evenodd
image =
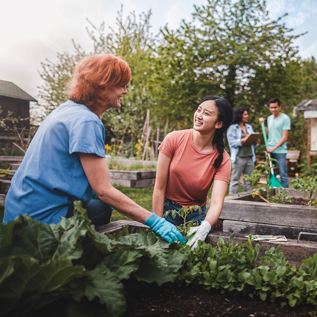
M113 208L100 199L91 199L85 209L87 210L88 218L91 219L91 223L96 227L110 222ZM69 208L66 218L70 218L73 215L73 208Z

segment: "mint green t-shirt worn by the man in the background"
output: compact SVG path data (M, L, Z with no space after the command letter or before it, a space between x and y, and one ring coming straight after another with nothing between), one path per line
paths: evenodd
M267 118L267 128L269 130L267 143L268 147L272 148L282 138L283 130L291 130L291 119L284 113L280 114L276 119L274 119L274 115L271 115ZM286 154L287 142L284 142L279 148L273 151L273 153Z

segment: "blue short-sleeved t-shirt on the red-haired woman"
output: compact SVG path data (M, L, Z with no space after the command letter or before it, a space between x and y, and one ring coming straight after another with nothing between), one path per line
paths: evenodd
M85 205L92 189L80 164L79 153L105 157L105 130L85 105L71 100L42 122L5 199L3 223L29 214L44 223L58 223L74 200Z

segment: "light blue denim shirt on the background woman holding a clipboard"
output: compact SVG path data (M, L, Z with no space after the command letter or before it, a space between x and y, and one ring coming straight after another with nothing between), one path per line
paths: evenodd
M254 133L254 130L250 124L245 123L245 127L246 127L247 134ZM242 130L239 127L238 123L231 124L229 126L229 128L227 129L227 140L228 140L228 144L229 144L230 158L231 158L232 163L236 162L239 148L242 146L241 139L242 139ZM255 148L257 146L258 146L258 144L251 145L252 161L254 163L256 162Z

